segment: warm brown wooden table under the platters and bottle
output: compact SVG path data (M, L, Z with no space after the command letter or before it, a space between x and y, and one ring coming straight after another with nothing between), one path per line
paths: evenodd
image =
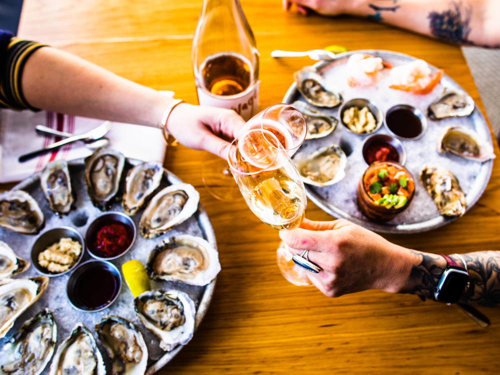
M292 73L312 62L276 60L271 50L340 44L421 57L443 68L484 113L458 47L364 19L285 13L278 0L241 2L260 51L260 108L280 102ZM200 0L24 0L19 35L196 103L190 46L200 6ZM161 373L498 373L499 308L481 308L491 320L482 329L455 307L412 295L370 290L332 299L285 281L275 264L277 231L242 199L221 202L204 188L200 162L211 157L178 146L165 159L200 192L222 271L202 324ZM424 234L386 237L430 252L498 250L499 201L495 163L486 191L465 216ZM331 219L312 202L307 217Z

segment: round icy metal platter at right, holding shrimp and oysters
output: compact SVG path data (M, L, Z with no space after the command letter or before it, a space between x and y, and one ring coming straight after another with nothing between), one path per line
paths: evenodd
M368 166L362 155L363 142L370 135L392 135L391 132L387 129L385 123L383 123L383 126L377 126L369 135L350 131L342 124L342 120L340 119L339 112L344 110L343 104L330 108L320 105L322 103L319 102L313 106L310 100L303 95L306 85L300 87L301 90L299 90L297 83L294 82L284 95L283 102L292 104L300 101L301 103L298 106L303 107L307 104L310 108L320 111L322 114L326 113L339 121L335 129L328 135L320 138L306 138L293 155L293 159L300 160L307 157L307 155L313 154L316 150L324 149L332 144L340 146L347 159L345 176L341 180L324 186L315 186L306 183L307 196L332 216L349 219L378 232L421 232L445 225L456 219L456 216L449 217L439 214L426 188L418 180L418 176L424 166L446 168L456 176L465 194L466 209L474 205L486 188L493 160L473 160L457 156L451 152L438 152L438 148L443 150L443 147L438 143L443 138L443 131L450 127L459 127L464 129L465 132L472 131L483 144L492 150L489 128L483 115L477 106L474 105L472 99L468 98L467 100L471 102L466 102L463 105L472 105L472 113L465 116L454 116L456 113L452 113L447 118L438 118L442 116L443 105L435 105L436 100L442 98L441 104L446 104L445 100L449 100L449 97L446 96L447 92L455 91L464 93L463 89L446 74L443 74L440 82L430 92L425 94L414 94L400 89L389 88L389 68L380 71L379 79L375 84L352 87L347 82L346 63L354 53L380 57L383 60L384 67L392 66L392 68L415 61L416 58L392 51L360 50L340 53L336 55L333 61L321 61L313 65L317 72L317 75L314 76L319 76L328 89L331 89L332 92L338 94L338 97L341 97L343 103L352 102L352 99L367 99L366 101L370 105L380 109L382 116L387 113L389 108L396 106L414 107L416 111L425 116L426 128L422 135L413 137L412 139L409 139L409 137L408 139L399 139L405 151L404 167L411 172L415 179L414 197L405 211L388 221L375 221L363 216L357 206L356 191L359 178ZM431 65L429 67L432 72L439 70ZM307 72L306 69L304 70ZM309 76L305 78L309 78ZM291 79L292 77L290 76ZM314 83L306 83L312 87L312 90L317 89L317 87L314 87ZM466 93L465 96L468 97ZM428 110L431 104L433 111ZM303 112L303 108L298 109ZM460 110L460 108L457 108L457 110ZM385 119L383 119L383 122L385 122Z

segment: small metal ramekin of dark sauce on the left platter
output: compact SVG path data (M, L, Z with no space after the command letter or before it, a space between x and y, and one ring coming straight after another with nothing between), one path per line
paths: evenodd
M109 298L109 300L103 304L100 305L96 308L84 306L81 301L78 300L75 292L76 288L76 281L78 280L78 277L85 271L92 269L92 268L97 268L97 267L102 267L106 268L111 274L112 277L114 278L115 282L117 283L117 287L115 288L115 292L113 295ZM103 261L103 260L87 260L83 263L81 263L74 271L69 275L69 278L67 280L66 284L66 295L67 299L69 300L69 303L73 308L79 311L83 312L96 312L103 310L106 307L109 307L115 300L118 298L118 295L120 294L121 291L121 275L120 271L116 266L108 261Z

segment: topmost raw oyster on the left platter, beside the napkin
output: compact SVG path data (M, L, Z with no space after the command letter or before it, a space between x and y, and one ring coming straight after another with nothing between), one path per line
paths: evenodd
M105 209L118 191L125 157L121 152L99 148L85 157L85 184L92 203Z

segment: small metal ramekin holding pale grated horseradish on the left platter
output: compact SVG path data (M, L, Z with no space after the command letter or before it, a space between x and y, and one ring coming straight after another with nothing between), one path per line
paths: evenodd
M76 261L74 262L74 264L69 269L59 273L50 272L47 268L42 267L40 263L38 263L38 254L46 250L48 246L58 242L59 239L61 238L71 238L73 241L79 242L79 244L81 245L81 252ZM70 226L58 226L56 228L48 229L38 236L36 241L33 243L33 246L31 247L31 263L33 263L36 272L44 276L48 277L60 276L74 269L74 267L76 267L76 265L83 257L84 251L85 251L85 241L83 240L83 236L80 234L78 230Z

